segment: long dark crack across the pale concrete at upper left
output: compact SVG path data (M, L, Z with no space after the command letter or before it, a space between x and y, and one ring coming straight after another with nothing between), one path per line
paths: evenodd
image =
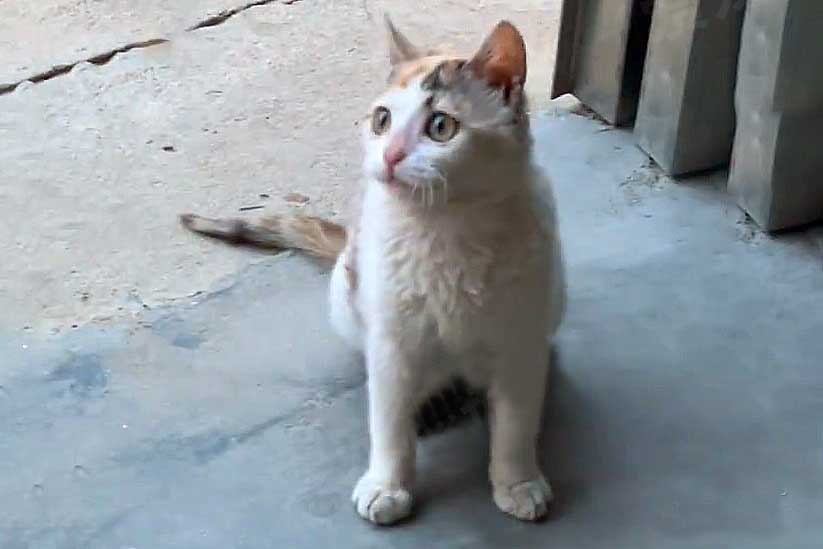
M282 5L285 5L285 6L289 6L291 4L296 4L297 2L300 2L300 1L301 0L255 0L254 2L249 2L247 4L244 4L244 5L236 7L236 8L223 10L220 13L218 13L217 15L213 15L211 17L208 17L207 19L204 19L204 20L198 22L195 25L192 25L191 27L186 29L186 32L194 32L194 31L197 31L197 30L200 30L200 29L205 29L205 28L216 27L218 25L222 25L223 23L225 23L226 21L228 21L229 19L231 19L235 15L238 15L240 13L243 13L246 10L249 10L251 8L255 8L255 7L258 7L258 6L265 6L267 4L282 4ZM168 42L170 42L170 40L167 39L167 38L151 38L149 40L141 40L139 42L132 42L132 43L126 44L124 46L114 48L114 49L109 50L107 52L100 53L100 54L94 55L92 57L88 57L86 59L81 59L79 61L74 61L73 63L64 63L64 64L60 64L60 65L55 65L47 71L43 71L43 72L37 73L33 76L23 78L22 80L18 80L17 82L12 82L12 83L9 83L9 84L0 84L0 95L5 95L7 93L11 93L14 90L16 90L20 85L22 85L26 82L31 82L32 84L39 84L41 82L46 82L47 80L51 80L52 78L57 78L58 76L63 76L64 74L70 73L72 71L72 69L74 69L77 65L80 65L82 63L91 63L93 65L103 66L103 65L106 65L107 63L109 63L112 59L114 59L115 56L117 56L121 53L126 53L126 52L129 52L129 51L132 51L132 50L140 50L140 49L145 49L145 48L151 48L153 46L158 46L160 44L166 44Z

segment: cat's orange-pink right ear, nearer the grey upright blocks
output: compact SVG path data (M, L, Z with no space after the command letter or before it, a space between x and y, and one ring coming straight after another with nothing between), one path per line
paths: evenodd
M517 28L501 21L486 38L467 68L506 96L526 84L526 44Z

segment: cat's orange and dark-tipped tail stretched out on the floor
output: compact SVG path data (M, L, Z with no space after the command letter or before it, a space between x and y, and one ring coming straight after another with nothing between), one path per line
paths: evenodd
M335 260L346 246L345 227L307 215L273 215L248 222L182 214L180 222L192 232L230 244L300 250L320 259Z

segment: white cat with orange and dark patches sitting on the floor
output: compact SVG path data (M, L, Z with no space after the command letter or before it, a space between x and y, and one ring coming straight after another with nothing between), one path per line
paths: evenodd
M532 158L525 44L502 21L462 59L421 50L386 23L391 75L364 125L356 223L181 220L335 262L331 323L368 373L369 465L352 494L362 517L410 515L415 411L459 376L487 395L495 503L537 520L552 499L537 438L565 284L554 199Z

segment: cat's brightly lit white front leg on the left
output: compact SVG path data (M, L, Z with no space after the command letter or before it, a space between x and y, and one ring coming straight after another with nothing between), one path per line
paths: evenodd
M411 514L414 483L415 351L391 336L373 333L366 342L369 392L369 468L352 494L357 512L375 524Z

